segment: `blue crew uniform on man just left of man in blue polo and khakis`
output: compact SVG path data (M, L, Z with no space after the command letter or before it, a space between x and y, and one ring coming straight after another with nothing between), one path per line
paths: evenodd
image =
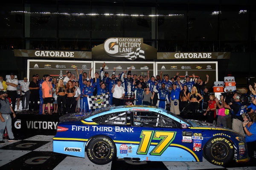
M160 89L157 84L157 86L154 86L154 92L158 92L157 106L166 109L166 104L169 103L169 91L162 88Z

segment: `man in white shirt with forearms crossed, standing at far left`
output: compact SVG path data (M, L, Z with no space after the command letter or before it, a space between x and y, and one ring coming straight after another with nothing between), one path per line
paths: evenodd
M18 80L15 79L14 74L11 74L11 78L6 80L8 97L12 101L12 109L15 110L16 98L17 98L17 86Z

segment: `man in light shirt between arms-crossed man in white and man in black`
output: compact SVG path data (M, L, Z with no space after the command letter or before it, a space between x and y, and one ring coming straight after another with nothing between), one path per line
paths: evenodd
M29 84L30 82L28 81L28 78L24 77L23 81L20 82L20 88L22 91L22 95L23 95L23 100L21 102L22 105L22 110L29 110L28 106L29 106ZM26 107L25 107L25 99L26 99Z

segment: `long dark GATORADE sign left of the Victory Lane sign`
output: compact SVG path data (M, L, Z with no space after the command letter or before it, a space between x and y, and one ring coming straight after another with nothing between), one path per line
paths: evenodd
M14 56L15 57L33 57L33 58L84 58L84 59L91 59L92 52L14 49Z

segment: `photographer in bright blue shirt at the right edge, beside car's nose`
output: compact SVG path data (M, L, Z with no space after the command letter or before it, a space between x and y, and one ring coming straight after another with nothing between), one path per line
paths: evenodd
M244 116L243 128L245 135L245 141L247 144L248 155L250 158L254 156L254 150L256 150L256 124L255 114L246 113Z

